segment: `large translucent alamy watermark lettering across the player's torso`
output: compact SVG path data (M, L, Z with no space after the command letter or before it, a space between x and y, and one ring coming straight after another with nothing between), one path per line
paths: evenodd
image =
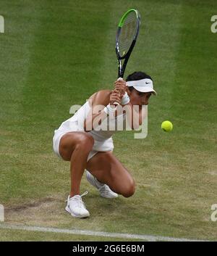
M72 131L137 131L134 133L135 139L145 139L148 135L148 106L147 105L119 105L116 112L103 111L105 106L97 105L92 107L89 100L83 106L73 105L69 113L74 115L77 110L80 114L75 114L70 120ZM95 113L95 114L94 114ZM140 131L140 133L139 133Z

